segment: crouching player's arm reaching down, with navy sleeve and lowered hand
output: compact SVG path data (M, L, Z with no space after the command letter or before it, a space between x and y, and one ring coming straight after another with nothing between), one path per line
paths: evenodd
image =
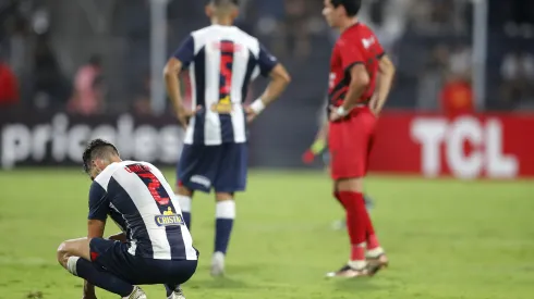
M106 190L97 182L93 182L89 189L89 214L87 216L87 238L101 238L106 227L109 211L109 198ZM95 286L84 283L84 296L96 298Z

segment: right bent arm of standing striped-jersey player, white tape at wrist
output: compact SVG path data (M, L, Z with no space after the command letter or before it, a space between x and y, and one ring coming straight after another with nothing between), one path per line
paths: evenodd
M260 74L265 77L270 77L270 82L259 99L255 100L247 108L248 121L252 121L254 116L278 99L291 82L291 77L288 71L286 71L286 67L263 46L259 47L258 66Z

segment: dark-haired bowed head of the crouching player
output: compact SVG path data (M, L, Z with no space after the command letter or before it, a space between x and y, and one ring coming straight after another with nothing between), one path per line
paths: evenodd
M113 144L104 139L94 139L85 148L83 161L85 173L94 180L109 164L122 160Z

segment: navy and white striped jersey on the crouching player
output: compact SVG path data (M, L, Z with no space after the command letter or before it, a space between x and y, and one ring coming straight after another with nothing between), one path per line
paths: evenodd
M126 233L129 253L156 260L196 260L180 204L150 163L122 161L106 167L89 190L89 220L110 217Z

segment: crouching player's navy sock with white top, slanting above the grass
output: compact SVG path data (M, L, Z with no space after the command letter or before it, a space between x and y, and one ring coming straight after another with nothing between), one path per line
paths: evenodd
M105 290L111 291L121 297L128 297L134 290L133 285L113 276L111 273L104 271L98 265L95 265L94 263L78 257L69 258L66 267L69 272L84 278L92 285L104 288Z

